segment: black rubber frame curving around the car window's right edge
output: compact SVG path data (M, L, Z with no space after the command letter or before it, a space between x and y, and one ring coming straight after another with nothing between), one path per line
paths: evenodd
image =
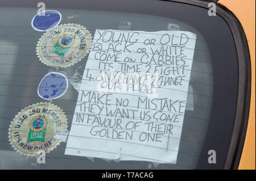
M160 0L171 1L177 3L185 3L188 5L199 6L204 9L209 9L209 2L203 0ZM3 2L4 3L4 2ZM1 3L2 4L2 3ZM16 6L24 6L16 5ZM33 6L36 6L36 2ZM229 11L225 6L216 3L216 13L221 16L228 24L230 31L233 34L233 39L236 45L238 57L238 96L236 106L236 118L234 120L234 127L231 142L229 145L228 154L226 157L224 169L237 169L242 149L245 141L247 122L249 118L250 108L250 92L251 92L251 67L250 67L250 52L247 45L245 32L242 25L233 12ZM197 167L200 169L200 167ZM202 168L203 169L203 168Z

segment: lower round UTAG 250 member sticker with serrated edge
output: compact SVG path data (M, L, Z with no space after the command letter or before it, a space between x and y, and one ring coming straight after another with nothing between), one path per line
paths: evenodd
M67 131L67 117L59 107L37 103L24 108L15 116L9 128L9 141L14 150L27 156L38 156L56 148L60 140L55 134Z

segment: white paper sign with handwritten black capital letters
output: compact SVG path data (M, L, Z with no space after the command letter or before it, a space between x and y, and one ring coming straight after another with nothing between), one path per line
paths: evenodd
M196 35L96 30L65 154L176 163Z

